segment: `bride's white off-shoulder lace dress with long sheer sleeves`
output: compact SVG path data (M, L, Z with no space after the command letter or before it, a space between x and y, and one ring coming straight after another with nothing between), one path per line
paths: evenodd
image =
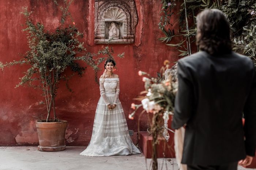
M124 111L118 98L119 78L99 79L99 89L101 97L96 109L91 141L80 155L106 157L139 154L139 149L129 136ZM109 110L108 103L114 103L116 107Z

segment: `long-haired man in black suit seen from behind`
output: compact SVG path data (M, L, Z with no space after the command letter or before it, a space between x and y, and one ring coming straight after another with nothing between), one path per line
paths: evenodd
M188 170L236 170L255 155L255 69L251 59L231 51L222 11L204 10L196 20L201 51L178 60L172 127L185 125L181 163Z

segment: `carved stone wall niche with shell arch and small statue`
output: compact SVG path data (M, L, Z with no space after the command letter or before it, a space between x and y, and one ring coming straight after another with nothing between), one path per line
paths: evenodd
M137 23L134 0L95 0L95 44L134 43Z

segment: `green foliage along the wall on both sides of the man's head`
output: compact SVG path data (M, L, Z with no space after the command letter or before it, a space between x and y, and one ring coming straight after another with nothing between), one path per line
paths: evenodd
M165 7L162 8L162 11L165 12L163 12L164 16L161 16L161 18L168 19L162 26L168 29L169 25L172 26L169 21L174 13L172 11L173 6L167 7L166 3L172 4L175 1L162 0L161 3ZM172 37L177 37L180 42L173 44L169 40L165 43L167 46L177 47L178 51L181 52L179 56L190 55L192 53L191 47L195 46L197 13L208 8L218 8L225 13L230 22L233 50L255 59L255 0L179 0L178 4L180 4L178 30L181 31L178 31ZM161 19L160 21L162 22ZM163 30L163 27L159 27L159 29ZM159 40L163 40L163 38Z

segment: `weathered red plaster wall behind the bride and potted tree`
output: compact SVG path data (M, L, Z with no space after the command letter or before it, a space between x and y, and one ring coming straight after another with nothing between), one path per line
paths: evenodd
M178 51L167 47L157 39L163 36L158 29L161 1L135 0L138 12L136 38L134 44L111 44L115 54L125 52L125 58L117 60L116 74L120 77L120 100L123 103L128 128L137 131L138 115L128 119L132 112L132 100L143 91L143 82L138 71L155 75L165 59L173 64L178 59ZM94 0L75 0L70 12L76 26L84 33L87 51L96 52L105 45L94 44ZM1 0L0 4L0 61L19 60L20 54L28 49L26 33L21 30L25 24L21 8L27 6L34 11L34 21L44 23L53 31L59 22L60 11L51 0ZM176 19L174 19L176 20ZM174 24L176 28L176 24ZM103 67L103 64L102 64ZM0 145L38 145L36 117L45 118L46 107L38 105L42 100L41 91L30 87L18 87L19 78L26 66L13 66L0 71ZM103 72L103 70L102 70ZM98 77L101 73L98 74ZM56 111L59 119L68 120L67 145L87 145L90 142L95 109L99 99L99 86L94 81L94 72L86 70L82 78L74 76L69 81L73 92L62 83L56 98ZM138 112L139 113L139 112ZM143 115L140 129L148 127L147 116ZM136 133L135 133L136 134Z

